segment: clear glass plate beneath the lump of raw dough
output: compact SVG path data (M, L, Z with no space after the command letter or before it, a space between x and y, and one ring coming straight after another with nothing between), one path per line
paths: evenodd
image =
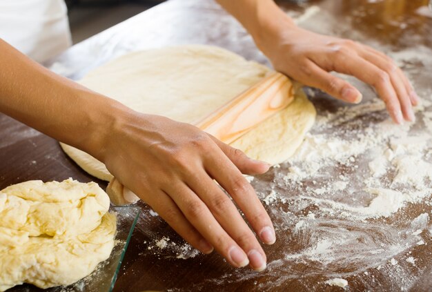
M72 291L97 291L110 292L114 288L117 275L121 267L126 249L132 237L132 232L137 224L140 208L136 206L111 206L110 212L117 213L117 234L115 246L108 260L101 262L95 271L86 278L79 280L70 286L57 286L50 289L39 289L30 284L14 286L8 292L23 291L49 291L49 292L72 292Z

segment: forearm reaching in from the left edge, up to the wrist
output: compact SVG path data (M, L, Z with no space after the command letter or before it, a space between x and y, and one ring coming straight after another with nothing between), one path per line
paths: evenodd
M117 101L55 75L0 39L0 112L99 156L104 131L121 110Z

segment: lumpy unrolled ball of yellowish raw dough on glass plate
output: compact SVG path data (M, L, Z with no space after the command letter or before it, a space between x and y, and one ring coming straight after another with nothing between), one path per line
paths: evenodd
M0 191L0 291L23 282L68 285L114 247L115 215L94 182L29 181Z

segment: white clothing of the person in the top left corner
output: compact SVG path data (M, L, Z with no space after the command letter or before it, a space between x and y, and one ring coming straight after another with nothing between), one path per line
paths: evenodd
M0 0L0 38L38 62L71 44L63 0Z

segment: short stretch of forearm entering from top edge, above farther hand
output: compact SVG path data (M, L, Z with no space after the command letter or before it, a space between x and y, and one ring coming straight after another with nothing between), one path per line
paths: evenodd
M262 50L276 35L295 27L293 20L273 0L216 1L242 23Z

